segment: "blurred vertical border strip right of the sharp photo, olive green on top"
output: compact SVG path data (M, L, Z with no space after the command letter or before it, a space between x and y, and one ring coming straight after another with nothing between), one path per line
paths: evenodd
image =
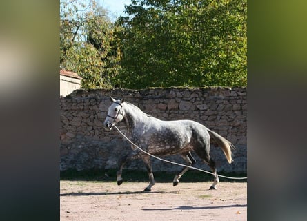
M248 220L304 220L306 1L248 0Z

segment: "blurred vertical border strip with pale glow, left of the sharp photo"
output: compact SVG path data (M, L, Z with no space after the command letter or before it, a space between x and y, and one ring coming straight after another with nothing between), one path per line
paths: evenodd
M1 1L0 44L1 220L59 220L59 1Z

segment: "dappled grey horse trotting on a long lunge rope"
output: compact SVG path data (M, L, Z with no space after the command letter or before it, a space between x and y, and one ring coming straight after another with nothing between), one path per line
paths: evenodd
M206 126L194 122L192 120L174 120L163 121L143 113L137 106L125 102L124 99L115 100L111 97L112 104L108 108L108 115L104 122L107 130L111 130L118 122L124 122L127 127L127 136L137 146L152 155L166 156L180 154L189 166L195 164L195 159L191 155L191 151L195 151L197 155L204 160L212 173L214 173L214 182L210 189L216 189L219 183L215 162L210 157L210 142L215 146L220 146L228 163L232 162L231 150L235 146L221 135L214 131L210 131ZM144 191L151 191L155 185L155 179L152 174L152 166L150 156L146 155L131 146L133 150L130 154L125 155L119 160L119 170L117 171L117 184L123 183L121 173L124 164L130 160L141 158L146 165L150 184ZM188 171L185 167L173 180L173 186L179 183L179 179Z

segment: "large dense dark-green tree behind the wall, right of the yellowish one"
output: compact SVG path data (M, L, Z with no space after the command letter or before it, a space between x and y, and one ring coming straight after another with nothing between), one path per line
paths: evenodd
M246 86L246 0L133 0L121 86Z

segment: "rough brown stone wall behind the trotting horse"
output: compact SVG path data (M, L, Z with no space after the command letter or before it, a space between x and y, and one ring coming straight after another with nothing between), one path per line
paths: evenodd
M110 96L139 106L159 119L192 119L204 124L235 144L232 164L228 164L221 148L211 146L210 155L218 171L246 172L247 166L247 101L246 88L150 88L146 90L99 89L75 90L60 99L61 171L66 169L114 169L119 157L132 151L130 144L113 129L105 131ZM125 131L123 123L119 128ZM195 166L208 170L195 153ZM184 163L175 155L164 157ZM179 171L180 166L152 160L154 171ZM126 165L128 169L144 169L141 160Z

